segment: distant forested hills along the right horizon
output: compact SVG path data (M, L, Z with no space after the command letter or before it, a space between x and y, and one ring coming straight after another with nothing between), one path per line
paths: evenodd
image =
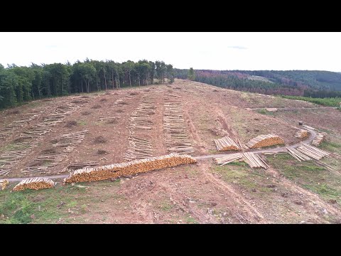
M176 78L188 70L175 69ZM341 73L318 70L195 70L195 81L269 95L340 97Z

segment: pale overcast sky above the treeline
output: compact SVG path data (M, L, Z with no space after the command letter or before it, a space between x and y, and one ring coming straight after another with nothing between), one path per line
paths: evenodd
M175 68L341 71L341 33L0 33L0 63L163 60Z

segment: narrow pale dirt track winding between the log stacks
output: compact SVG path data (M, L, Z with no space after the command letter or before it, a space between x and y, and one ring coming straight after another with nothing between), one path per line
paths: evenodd
M301 146L302 144L310 144L311 142L313 142L313 139L315 139L316 137L316 132L313 131L312 129L308 129L308 131L310 132L310 137L308 137L308 139L305 139L302 142L298 142L296 144L291 145L291 147L298 147ZM259 154L259 153L263 153L264 151L269 152L269 151L278 151L280 149L285 149L286 146L281 146L281 147L277 147L275 149L264 149L264 150L251 150L253 153ZM206 155L206 156L196 156L195 159L197 160L201 160L201 159L210 159L210 158L214 158L214 157L221 157L221 156L226 156L227 154L210 154L210 155ZM50 178L50 179L61 179L61 178L66 178L67 176L69 176L68 174L60 174L60 175L53 175L53 176L38 176L38 177L45 177L45 178ZM36 178L36 177L25 177L25 178L5 178L7 181L9 182L19 182L19 181L23 181L26 178Z

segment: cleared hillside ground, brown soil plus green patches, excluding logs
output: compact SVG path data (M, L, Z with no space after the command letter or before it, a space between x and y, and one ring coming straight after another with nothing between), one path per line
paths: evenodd
M129 117L151 99L151 129L134 135L148 139L152 156L168 154L163 114L165 97L175 95L185 117L193 156L222 154L214 139L228 135L246 144L259 134L277 134L286 145L299 121L327 134L320 148L328 159L298 162L286 154L262 156L269 169L251 169L243 162L217 166L201 157L193 165L152 171L116 181L62 185L42 191L0 191L0 223L340 223L341 222L341 112L310 102L226 90L188 80L172 85L150 85L38 100L0 113L0 129L26 120L0 139L0 178L66 175L70 164L96 165L126 161ZM173 96L172 96L173 97ZM46 122L55 110L68 106L61 122L44 134L23 133ZM262 108L278 108L264 112ZM287 111L287 109L291 111ZM106 119L107 117L112 117ZM85 132L72 146L53 144L63 134ZM27 134L27 133L26 133ZM130 134L131 135L131 134ZM25 151L17 163L1 164L1 156ZM227 152L228 153L228 152ZM46 154L62 154L50 161ZM42 160L43 159L43 160ZM45 166L37 171L37 166ZM35 168L36 167L36 168ZM40 168L40 167L39 167ZM15 199L15 203L13 203Z

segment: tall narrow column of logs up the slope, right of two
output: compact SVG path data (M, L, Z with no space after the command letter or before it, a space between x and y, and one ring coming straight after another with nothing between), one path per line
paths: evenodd
M167 150L171 153L192 154L194 149L186 133L185 118L180 96L165 95L165 110L163 112L163 131Z

